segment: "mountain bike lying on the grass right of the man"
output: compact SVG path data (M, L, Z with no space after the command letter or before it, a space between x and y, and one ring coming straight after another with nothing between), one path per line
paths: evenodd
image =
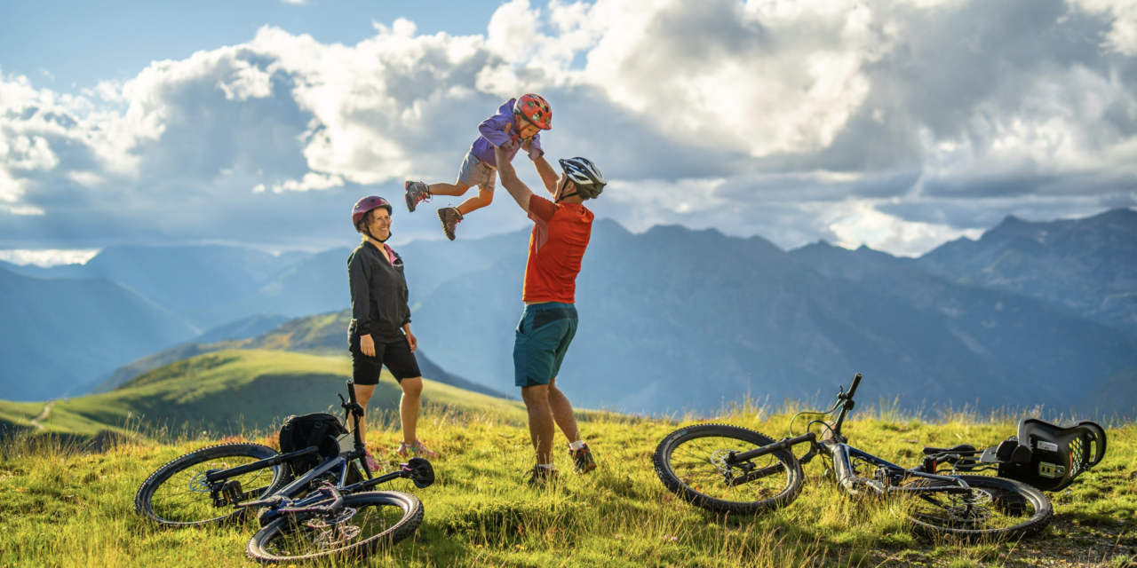
M806 431L820 425L820 440L813 432L775 442L737 426L689 426L672 432L656 448L656 474L669 491L708 511L756 515L791 503L802 491L802 463L822 456L831 461L829 471L844 491L902 498L894 510L927 534L965 541L1020 538L1049 524L1053 508L1041 491L1013 479L960 474L993 469L977 460L979 452L971 445L924 448L923 461L907 469L848 445L841 424L860 384L857 374L847 393L841 387L831 409L803 412L838 414L835 423L806 425ZM800 460L795 458L792 446L806 443L810 451ZM946 466L949 473L938 473Z

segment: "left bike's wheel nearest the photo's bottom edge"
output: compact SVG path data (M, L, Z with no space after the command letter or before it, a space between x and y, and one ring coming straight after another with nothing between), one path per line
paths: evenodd
M334 516L294 513L273 520L252 535L246 554L266 563L364 558L410 536L422 521L423 506L409 493L356 493L343 496L343 509Z

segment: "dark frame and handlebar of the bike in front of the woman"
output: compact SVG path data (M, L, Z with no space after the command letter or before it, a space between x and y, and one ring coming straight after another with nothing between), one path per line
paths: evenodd
M260 523L262 525L265 525L273 518L284 513L305 511L329 512L338 510L342 507L341 494L357 493L393 479L409 478L420 488L430 486L434 482L433 468L429 461L422 458L413 458L407 463L401 463L398 471L392 471L379 477L372 477L372 471L371 468L367 467L367 461L365 459L360 459L365 456L365 445L359 435L359 420L364 415L363 407L356 402L355 383L352 381L348 381L347 385L349 402L343 401L343 395L339 396L341 401L340 406L348 410L354 420L355 427L351 429L351 434L355 438L355 448L352 450L340 452L339 456L325 460L292 483L285 485L274 495L259 501L246 500L260 494L265 491L265 487L242 491L240 482L231 478L238 475L256 471L258 469L281 466L293 459L318 453L319 449L316 446L309 446L304 450L282 453L272 458L246 463L243 466L206 471L206 482L209 483L214 504L217 507L229 504L235 509L248 507L268 507L268 510L260 515ZM347 483L348 473L351 469L351 461L356 459L358 459L359 463L363 466L367 479L351 485L345 485ZM331 477L335 481L334 484L329 482L329 474L331 474ZM292 501L297 498L297 495L300 495L305 491L315 490L316 487L313 485L314 482L317 481L323 481L323 484L318 490L312 491L312 493L299 501ZM327 494L335 499L331 509L327 507L313 507L314 503L326 500Z

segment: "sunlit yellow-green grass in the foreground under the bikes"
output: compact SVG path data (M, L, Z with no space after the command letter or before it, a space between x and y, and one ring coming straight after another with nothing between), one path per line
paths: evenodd
M213 368L225 365L234 364ZM198 392L186 385L186 396ZM715 421L781 437L789 418L789 411L744 407ZM806 486L790 507L757 518L715 517L666 493L652 468L656 443L680 423L596 412L581 420L599 469L533 490L523 483L532 459L528 431L496 412L432 406L421 431L443 453L434 460L438 483L425 490L409 482L387 487L418 495L425 520L414 538L360 566L1121 568L1137 554L1131 424L1110 429L1110 452L1098 467L1070 491L1051 495L1057 517L1041 537L962 546L916 538L887 502L838 493L821 478L821 460L806 467ZM390 414L374 414L370 426L373 451L387 467L397 462L389 453L398 435L392 421ZM928 421L870 409L847 423L846 433L865 450L912 465L922 444L993 444L1013 426L968 414ZM134 436L106 453L82 453L43 437L0 444L0 566L254 566L243 550L255 521L169 531L133 512L134 492L156 468L188 451L239 440L186 434L165 444ZM246 436L265 441L265 434ZM557 463L566 470L559 448Z

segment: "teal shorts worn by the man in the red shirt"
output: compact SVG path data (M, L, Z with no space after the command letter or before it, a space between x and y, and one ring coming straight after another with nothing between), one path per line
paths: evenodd
M576 335L576 307L559 302L525 306L515 335L514 382L517 386L547 385L561 371Z

